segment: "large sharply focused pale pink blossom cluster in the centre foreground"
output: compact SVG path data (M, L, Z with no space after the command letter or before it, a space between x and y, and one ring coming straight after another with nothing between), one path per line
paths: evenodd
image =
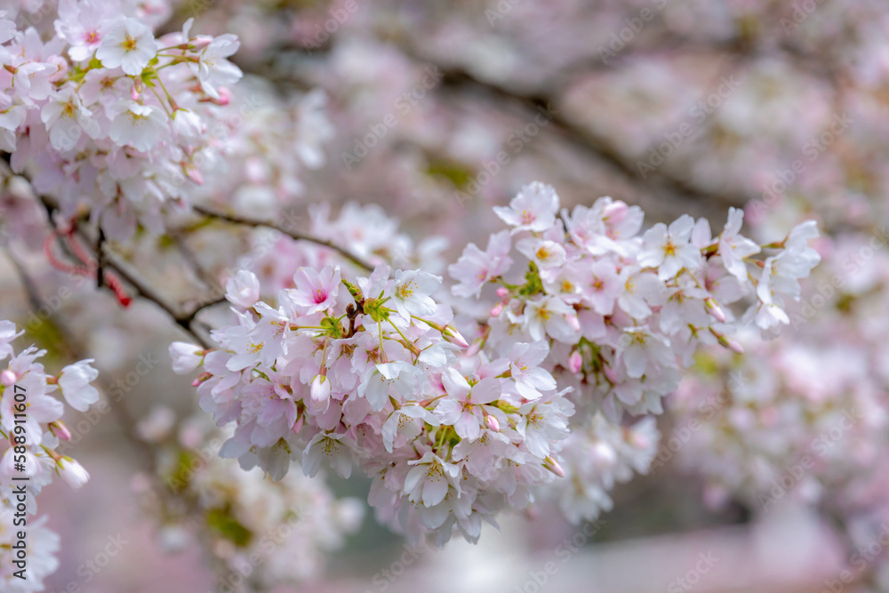
M431 298L441 277L390 276L299 268L273 308L243 271L228 283L237 323L213 333L222 349L174 343L174 370L203 369L201 407L236 423L220 454L245 469L281 478L300 460L308 475L324 464L348 477L358 465L380 520L413 540L456 528L475 541L482 519L563 473L573 405L539 367L545 343L471 355Z

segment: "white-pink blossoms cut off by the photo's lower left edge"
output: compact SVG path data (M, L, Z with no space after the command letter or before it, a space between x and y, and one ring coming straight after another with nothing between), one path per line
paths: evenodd
M92 359L65 366L58 375L44 371L39 361L46 354L31 346L20 352L12 341L23 332L16 332L10 321L0 321L0 517L5 521L0 530L0 544L13 544L17 530L12 529L13 516L18 513L34 516L35 496L58 475L73 488L79 488L89 474L77 461L55 452L60 440L71 433L61 421L65 405L53 393L58 391L72 408L85 411L98 401L99 392L90 384L98 376ZM17 478L17 479L16 479ZM27 481L21 481L27 478ZM15 486L26 485L27 494L20 500ZM23 509L20 508L23 505ZM43 589L43 579L58 567L55 553L59 537L45 527L45 518L28 518L28 579L22 581L14 573L16 551L0 545L0 588L10 591ZM24 525L16 523L15 525Z

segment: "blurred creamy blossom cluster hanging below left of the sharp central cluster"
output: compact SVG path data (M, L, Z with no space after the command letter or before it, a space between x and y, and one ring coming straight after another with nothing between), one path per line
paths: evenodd
M179 551L204 541L225 568L220 589L296 586L316 577L325 554L361 524L364 505L336 498L321 476L290 472L273 482L260 469L220 459L227 435L210 424L204 413L177 422L170 408L158 406L137 427L153 445L156 478L167 494L158 497L144 474L133 481L148 514L162 521L161 546Z

